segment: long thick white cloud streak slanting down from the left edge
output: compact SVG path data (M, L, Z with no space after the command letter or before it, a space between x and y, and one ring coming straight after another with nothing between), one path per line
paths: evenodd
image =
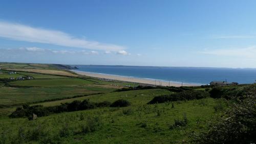
M45 43L58 46L86 48L91 50L120 51L125 48L113 44L101 44L96 41L89 41L76 38L65 32L33 28L30 26L0 22L0 37L10 38L33 43Z

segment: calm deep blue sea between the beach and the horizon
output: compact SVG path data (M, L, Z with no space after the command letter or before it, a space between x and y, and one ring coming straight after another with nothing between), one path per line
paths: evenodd
M188 84L209 84L210 81L252 84L256 80L256 69L193 68L193 67L139 67L79 65L79 71L150 78Z

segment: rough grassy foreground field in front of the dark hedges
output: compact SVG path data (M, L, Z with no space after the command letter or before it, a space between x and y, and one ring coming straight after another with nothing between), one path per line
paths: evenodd
M142 90L139 93L151 92ZM132 96L132 92L127 94ZM117 98L120 97L111 97L112 100ZM141 96L127 96L127 99L132 101L133 105L130 108L100 108L67 112L40 117L35 121L24 118L2 119L0 129L12 133L6 134L6 137L17 135L20 128L24 129L25 133L39 128L39 131L47 131L49 137L57 137L61 129L67 125L70 133L68 137L61 137L61 143L178 143L187 141L189 133L207 131L205 124L218 114L214 111L213 106L216 105L216 101L212 98L175 102L175 108L168 104L145 105L149 97L147 99ZM124 114L126 110L130 113ZM174 119L181 119L184 114L189 120L188 126L170 130L169 127L174 123ZM101 128L93 133L79 134L83 123L86 122L81 118L83 116L99 116L102 120ZM146 127L142 127L142 124ZM12 127L6 127L10 125Z

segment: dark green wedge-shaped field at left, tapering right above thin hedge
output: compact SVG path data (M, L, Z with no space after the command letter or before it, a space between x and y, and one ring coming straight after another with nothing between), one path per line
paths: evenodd
M93 87L59 87L59 88L0 88L0 105L17 105L25 102L34 102L47 99L65 98L76 95L111 92L113 89Z

